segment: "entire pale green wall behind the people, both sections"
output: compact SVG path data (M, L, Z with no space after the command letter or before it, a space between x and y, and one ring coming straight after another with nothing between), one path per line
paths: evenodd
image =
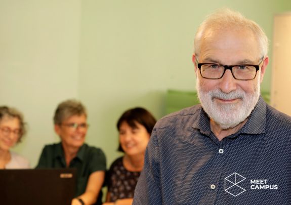
M221 7L255 20L271 40L273 15L291 11L291 2L0 0L0 104L21 109L29 125L16 150L34 166L44 144L58 141L55 107L77 98L89 111L87 142L109 166L120 155L115 124L124 110L143 106L160 118L168 89L195 90L194 35Z

